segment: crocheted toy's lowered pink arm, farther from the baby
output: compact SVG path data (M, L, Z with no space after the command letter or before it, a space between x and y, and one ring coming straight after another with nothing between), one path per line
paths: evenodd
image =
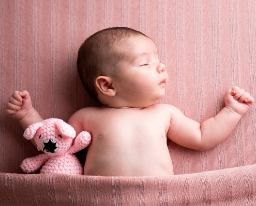
M21 163L21 168L24 173L34 173L34 171L38 170L46 161L50 158L47 154L41 154L36 157L26 158Z

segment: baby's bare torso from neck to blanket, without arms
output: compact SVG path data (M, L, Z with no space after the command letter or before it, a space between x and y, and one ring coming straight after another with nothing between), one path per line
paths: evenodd
M82 124L92 134L84 175L173 175L166 136L170 114L161 105L142 110L92 108Z

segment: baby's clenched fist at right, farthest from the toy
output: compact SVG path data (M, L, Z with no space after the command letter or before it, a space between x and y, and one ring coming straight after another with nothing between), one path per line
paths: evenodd
M232 112L236 112L239 115L245 114L253 105L254 99L248 92L234 87L229 90L225 95L225 106Z

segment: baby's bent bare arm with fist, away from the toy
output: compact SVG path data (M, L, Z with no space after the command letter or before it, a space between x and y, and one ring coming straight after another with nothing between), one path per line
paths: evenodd
M212 148L228 137L253 102L254 99L248 92L234 87L225 95L225 107L201 125L173 108L167 136L177 144L191 149Z

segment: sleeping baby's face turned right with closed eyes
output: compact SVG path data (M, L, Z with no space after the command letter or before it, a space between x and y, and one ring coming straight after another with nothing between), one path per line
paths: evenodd
M119 63L116 92L128 102L127 107L148 107L161 99L167 87L168 74L159 62L155 43L144 36L123 40L125 58Z

